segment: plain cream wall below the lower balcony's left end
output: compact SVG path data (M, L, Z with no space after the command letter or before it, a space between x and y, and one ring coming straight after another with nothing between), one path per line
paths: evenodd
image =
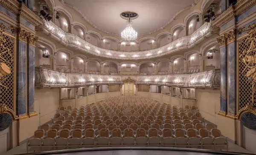
M22 119L19 122L19 142L34 135L38 126L54 117L59 107L59 89L35 89L35 112L37 116Z

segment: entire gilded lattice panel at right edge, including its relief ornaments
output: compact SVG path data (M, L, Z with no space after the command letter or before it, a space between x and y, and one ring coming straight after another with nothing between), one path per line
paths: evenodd
M249 28L250 29L250 28ZM256 115L256 29L247 32L239 40L239 112L240 118L245 112Z

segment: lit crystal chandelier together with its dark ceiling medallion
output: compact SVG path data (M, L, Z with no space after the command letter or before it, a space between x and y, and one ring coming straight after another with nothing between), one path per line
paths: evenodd
M138 37L138 33L132 28L132 20L138 17L138 14L132 11L125 11L120 14L123 19L127 20L127 26L122 31L121 37L124 41L133 41L136 40Z

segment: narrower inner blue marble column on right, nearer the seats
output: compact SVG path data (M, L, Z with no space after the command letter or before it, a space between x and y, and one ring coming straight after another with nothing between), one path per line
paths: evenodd
M221 47L221 111L227 112L227 51Z

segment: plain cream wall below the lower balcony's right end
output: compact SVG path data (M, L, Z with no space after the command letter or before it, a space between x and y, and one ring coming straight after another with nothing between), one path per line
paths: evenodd
M217 123L220 111L220 90L197 89L197 103L199 112L211 123Z

